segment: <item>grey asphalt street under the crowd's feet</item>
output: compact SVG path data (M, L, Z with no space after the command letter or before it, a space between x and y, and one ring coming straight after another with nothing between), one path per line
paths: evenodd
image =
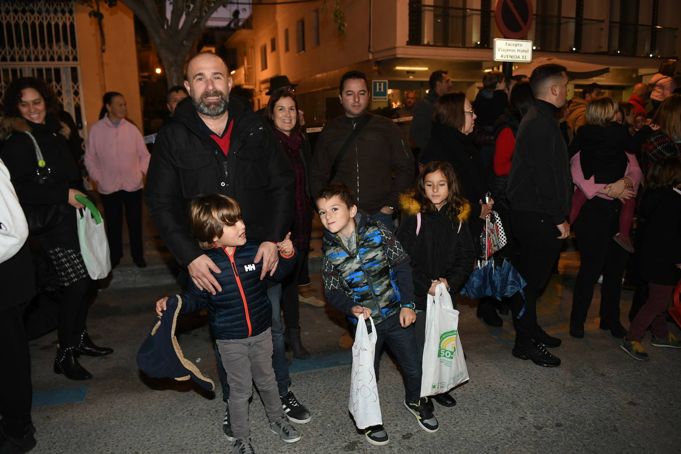
M586 338L567 335L577 253L563 253L539 305L540 323L563 339L554 353L559 368L541 368L511 356L509 316L492 329L475 317L475 304L460 301L460 333L471 380L454 392L458 405L436 404L440 429L427 434L402 408L402 381L383 355L379 393L387 447L373 447L348 416L349 352L338 347L342 317L329 308L302 305L303 340L313 359L294 360L294 390L313 419L299 426L302 440L287 445L270 434L259 398L251 405L251 430L258 453L622 453L679 452L681 417L678 378L681 351L643 344L651 361L627 356L619 341L598 329L592 306ZM314 274L315 293L321 277ZM136 351L155 321L153 302L176 291L161 287L103 289L91 308L89 330L96 343L116 348L101 359L84 357L94 378L85 383L52 372L56 335L31 342L36 453L225 453L224 406L219 391L204 393L191 382L151 379L136 366ZM598 291L595 302L598 301ZM622 310L631 291L624 291ZM622 321L625 321L625 316ZM676 326L670 327L679 334ZM217 382L208 336L200 317L180 320L185 355ZM65 402L65 403L58 403Z

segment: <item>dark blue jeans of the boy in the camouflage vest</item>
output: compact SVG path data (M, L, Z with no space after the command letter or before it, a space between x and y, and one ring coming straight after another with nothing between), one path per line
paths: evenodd
M359 322L362 323L362 322ZM416 344L416 327L412 323L406 328L400 325L399 313L383 321L376 327L376 354L374 355L374 370L376 379L379 378L381 364L381 349L387 343L390 351L400 363L402 379L405 380L405 400L418 402L421 398L421 356ZM368 326L371 331L371 326Z

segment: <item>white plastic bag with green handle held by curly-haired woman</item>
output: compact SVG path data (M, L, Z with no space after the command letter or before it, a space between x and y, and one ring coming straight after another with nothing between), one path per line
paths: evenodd
M93 209L95 213L91 212L87 207L76 210L78 242L80 243L80 254L83 256L83 261L90 277L93 279L103 279L111 271L109 242L106 240L104 222L97 208L93 207Z

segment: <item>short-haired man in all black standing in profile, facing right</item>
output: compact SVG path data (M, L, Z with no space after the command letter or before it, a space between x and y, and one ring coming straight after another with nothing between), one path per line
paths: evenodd
M511 227L518 242L513 265L527 281L524 298L513 295L516 346L513 356L539 366L560 366L547 347L560 339L537 323L537 293L546 285L563 239L570 235L572 177L569 155L556 113L567 99L567 73L561 65L541 65L532 73L535 102L522 119L507 187Z

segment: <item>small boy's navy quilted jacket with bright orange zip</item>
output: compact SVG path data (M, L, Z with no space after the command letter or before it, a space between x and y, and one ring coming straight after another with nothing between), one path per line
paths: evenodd
M272 326L272 304L267 297L267 285L260 280L262 260L253 263L260 243L249 241L234 249L229 257L223 248L208 250L206 255L221 273L213 273L222 291L211 295L199 290L190 280L180 314L206 309L210 332L216 339L245 339L257 336ZM272 279L281 281L296 264L296 255L279 255L279 266Z

